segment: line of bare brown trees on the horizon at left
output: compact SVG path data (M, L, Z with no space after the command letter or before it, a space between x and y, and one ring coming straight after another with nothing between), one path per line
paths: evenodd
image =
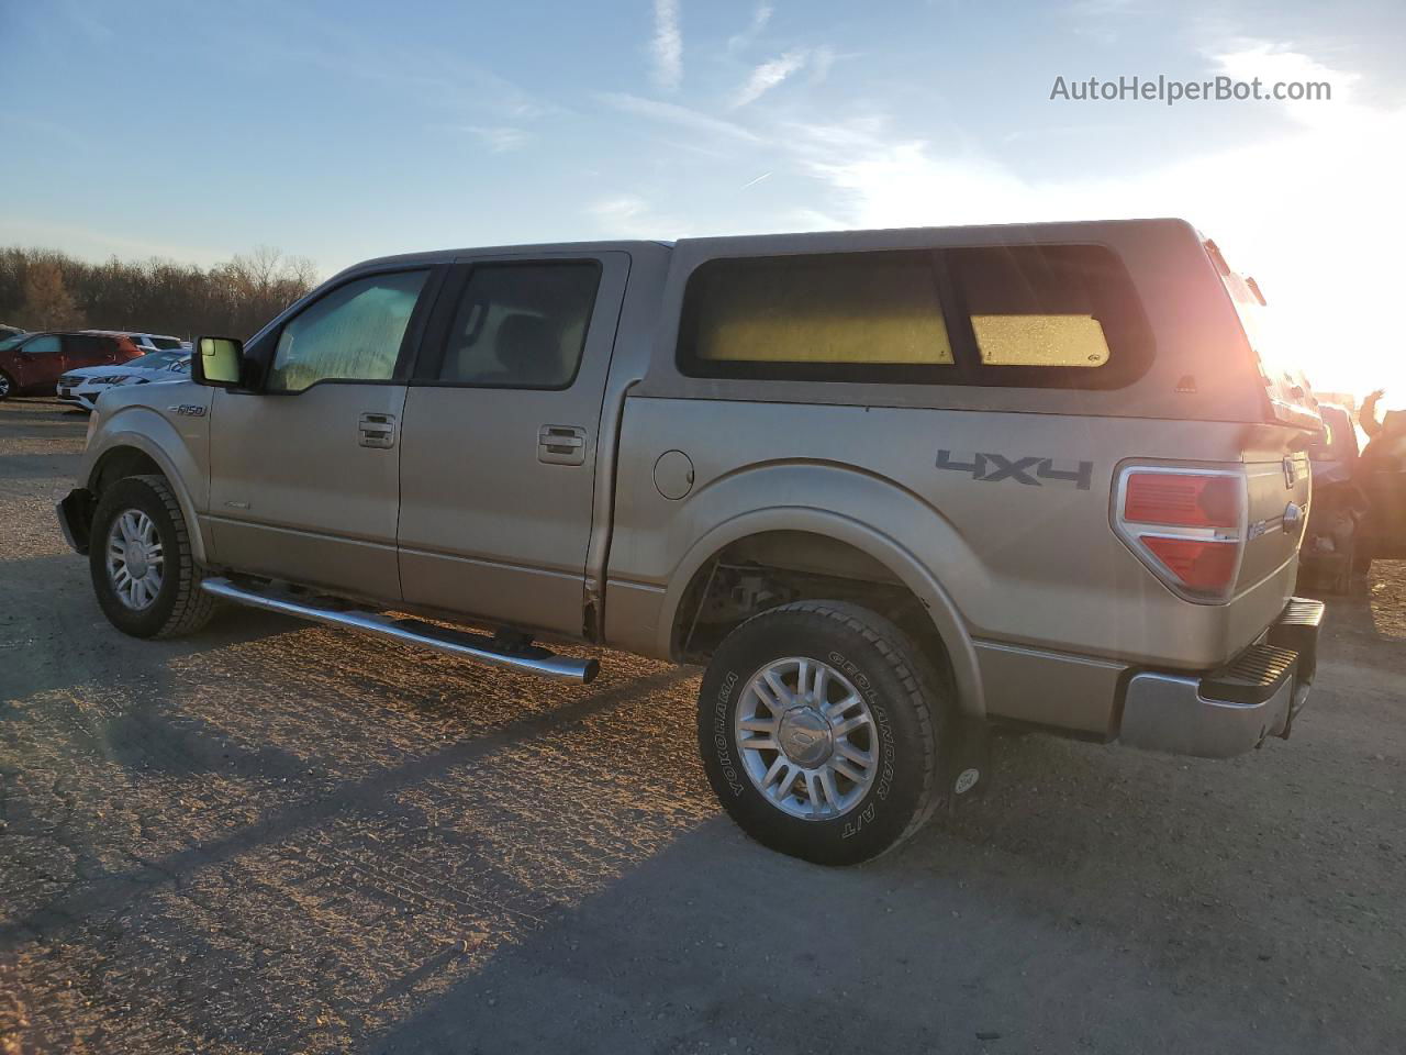
M267 246L212 267L0 249L0 324L250 338L316 281L311 260Z

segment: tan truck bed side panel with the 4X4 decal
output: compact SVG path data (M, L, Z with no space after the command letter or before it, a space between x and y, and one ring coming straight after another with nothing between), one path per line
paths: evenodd
M1249 644L1282 608L1294 554L1243 581L1233 603L1191 603L1114 535L1109 495L1125 459L1223 466L1240 460L1254 428L631 398L610 582L662 591L655 636L665 640L666 595L671 584L678 592L678 570L696 540L759 509L796 511L797 523L804 511L827 511L914 554L950 595L972 639L1208 668ZM652 481L655 461L671 449L685 452L696 473L679 501L664 498ZM644 606L638 598L627 603Z

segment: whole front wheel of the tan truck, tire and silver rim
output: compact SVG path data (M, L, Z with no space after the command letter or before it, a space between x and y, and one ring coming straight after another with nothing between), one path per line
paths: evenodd
M165 477L118 480L93 512L89 570L98 606L122 633L176 637L209 622L190 530Z

